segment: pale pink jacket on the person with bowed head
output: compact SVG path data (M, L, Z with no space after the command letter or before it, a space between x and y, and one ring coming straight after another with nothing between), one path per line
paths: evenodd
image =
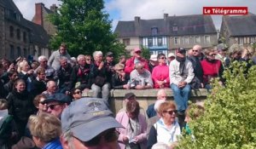
M126 112L119 112L117 113L115 119L121 123L124 127L126 127L129 123L129 117L127 116ZM142 149L147 148L147 127L148 124L146 122L146 117L143 114L138 115L138 122L140 123L140 135L137 135L138 142ZM118 128L119 131L119 149L125 149L125 143L123 142L123 137L127 135L127 129Z

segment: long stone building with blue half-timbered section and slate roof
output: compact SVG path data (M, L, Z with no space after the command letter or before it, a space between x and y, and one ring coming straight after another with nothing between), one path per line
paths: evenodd
M151 54L168 54L183 47L191 49L195 44L208 48L218 44L217 31L211 16L202 14L168 16L163 19L119 21L115 31L121 43L130 51L144 47Z

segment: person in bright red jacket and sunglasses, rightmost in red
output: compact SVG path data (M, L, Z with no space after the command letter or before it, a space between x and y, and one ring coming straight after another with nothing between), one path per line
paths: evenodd
M222 84L222 74L224 72L224 67L220 60L216 60L216 50L215 49L206 49L205 50L206 59L201 60L201 67L203 70L203 83L207 90L212 89L210 82L212 78L219 77L219 83Z

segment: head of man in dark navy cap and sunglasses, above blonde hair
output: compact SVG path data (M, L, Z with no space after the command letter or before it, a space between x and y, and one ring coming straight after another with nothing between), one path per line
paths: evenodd
M54 95L49 95L42 104L46 104L46 112L54 115L55 117L61 118L61 113L71 102L69 96L61 93L56 93Z

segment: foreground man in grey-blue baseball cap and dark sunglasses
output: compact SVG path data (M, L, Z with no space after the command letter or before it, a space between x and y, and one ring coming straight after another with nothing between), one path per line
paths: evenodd
M75 100L61 115L61 145L64 149L116 149L122 128L106 101L97 98Z

